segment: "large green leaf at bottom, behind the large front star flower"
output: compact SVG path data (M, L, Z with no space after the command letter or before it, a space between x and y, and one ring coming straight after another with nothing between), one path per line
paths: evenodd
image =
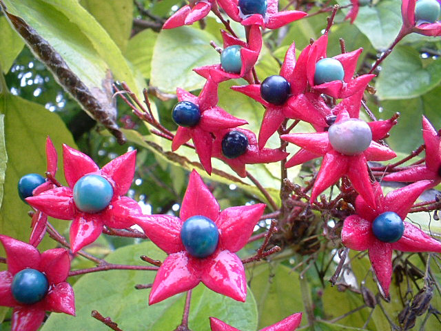
M107 256L110 263L145 265L139 257L164 259L165 253L150 241L119 248ZM76 317L52 314L41 331L59 331L69 325L70 330L107 331L103 323L90 317L92 310L110 316L124 331L174 330L182 319L185 295L147 305L150 290L136 290L138 283L151 283L155 272L136 270L110 270L86 274L74 285ZM248 291L247 301L240 303L199 285L192 292L189 328L193 331L209 330L209 317L217 317L243 331L256 330L256 301Z

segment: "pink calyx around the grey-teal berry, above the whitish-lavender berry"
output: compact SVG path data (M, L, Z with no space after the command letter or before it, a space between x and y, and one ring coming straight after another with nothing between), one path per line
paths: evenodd
M306 69L307 81L312 90L319 93L328 94L329 96L336 99L347 98L360 90L365 90L367 83L369 83L369 81L371 81L371 79L375 77L375 74L363 74L359 77L353 78L353 74L355 73L357 67L358 57L363 50L362 48L332 57L332 59L340 61L343 70L345 71L345 77L342 81L329 81L320 85L316 85L314 83L314 75L316 74L316 63L320 59L324 59L327 57L327 44L328 34L325 33L322 35L322 37L314 41L310 48L309 46L307 46L307 48L302 51L309 52Z

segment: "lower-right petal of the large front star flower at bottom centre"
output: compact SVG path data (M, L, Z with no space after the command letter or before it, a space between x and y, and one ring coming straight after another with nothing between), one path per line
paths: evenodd
M201 259L202 282L210 290L245 302L247 279L242 261L227 250L218 251Z

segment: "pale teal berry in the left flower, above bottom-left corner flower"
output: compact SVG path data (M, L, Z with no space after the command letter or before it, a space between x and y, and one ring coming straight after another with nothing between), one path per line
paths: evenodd
M86 174L74 185L74 203L82 212L100 212L112 197L112 185L99 174Z

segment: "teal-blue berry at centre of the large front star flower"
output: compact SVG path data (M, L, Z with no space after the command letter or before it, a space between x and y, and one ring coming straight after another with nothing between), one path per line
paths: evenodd
M181 241L185 250L193 257L209 257L218 245L218 227L205 216L190 217L183 223Z

